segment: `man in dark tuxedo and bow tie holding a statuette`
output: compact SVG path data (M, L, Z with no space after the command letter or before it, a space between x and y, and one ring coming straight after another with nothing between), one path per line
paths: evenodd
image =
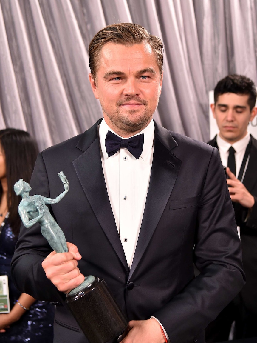
M244 284L218 150L152 119L162 50L140 25L99 31L89 81L103 119L38 156L33 193L54 199L61 170L70 183L50 206L69 251L22 227L12 271L23 292L60 303L55 342L88 342L63 301L84 275L103 278L130 320L123 343L204 343L204 328Z

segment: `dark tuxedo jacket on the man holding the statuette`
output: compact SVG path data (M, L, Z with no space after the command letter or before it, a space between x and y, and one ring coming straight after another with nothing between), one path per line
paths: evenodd
M206 325L244 284L240 240L218 150L155 123L149 189L129 269L102 171L100 121L39 154L32 192L56 198L63 191L57 176L62 170L70 190L50 210L82 255L80 271L103 278L129 320L155 316L171 342L204 342ZM64 295L41 267L50 251L39 226L22 227L13 277L22 292L63 304ZM55 342L87 342L63 305L57 305Z

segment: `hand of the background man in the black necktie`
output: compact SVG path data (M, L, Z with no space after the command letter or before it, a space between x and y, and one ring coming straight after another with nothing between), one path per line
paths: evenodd
M231 200L234 202L239 202L242 206L251 209L255 202L254 197L248 192L242 182L235 177L229 168L227 168L226 171L229 176L229 179L227 179L227 184L230 186L229 193Z

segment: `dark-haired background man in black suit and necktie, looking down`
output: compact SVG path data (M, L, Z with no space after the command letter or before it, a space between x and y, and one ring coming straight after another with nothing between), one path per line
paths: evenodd
M228 340L234 320L234 338L257 337L257 140L247 131L257 113L255 102L253 81L243 75L228 75L216 85L211 104L219 134L208 143L219 149L227 167L246 284L207 327L208 342Z

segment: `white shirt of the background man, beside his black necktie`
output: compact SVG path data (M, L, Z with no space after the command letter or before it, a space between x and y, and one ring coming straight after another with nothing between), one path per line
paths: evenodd
M221 162L222 162L224 167L228 166L229 148L231 146L233 146L233 148L235 149L235 162L236 162L236 174L235 174L235 176L236 176L236 178L238 178L238 174L239 174L242 162L243 162L245 150L246 150L246 147L247 147L249 141L250 141L250 133L249 132L247 132L245 137L243 137L239 141L233 143L232 145L230 143L224 141L224 139L222 139L219 134L217 135L217 145L219 147ZM249 156L248 156L248 158L249 158ZM247 168L247 164L248 164L248 159L246 161L245 170ZM243 174L241 181L243 181L243 178L244 178L244 174Z

